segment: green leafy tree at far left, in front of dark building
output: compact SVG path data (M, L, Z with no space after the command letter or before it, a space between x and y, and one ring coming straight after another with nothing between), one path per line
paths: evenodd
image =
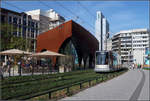
M1 50L7 49L21 49L21 50L31 50L31 39L25 39L23 37L17 37L11 34L12 28L13 31L17 31L17 27L12 24L2 23L1 24ZM20 29L19 29L20 30Z

